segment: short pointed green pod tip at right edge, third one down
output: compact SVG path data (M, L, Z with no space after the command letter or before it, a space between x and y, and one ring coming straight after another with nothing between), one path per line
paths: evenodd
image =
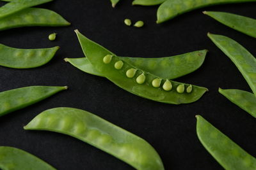
M219 89L220 94L256 118L256 97L250 92L237 89Z

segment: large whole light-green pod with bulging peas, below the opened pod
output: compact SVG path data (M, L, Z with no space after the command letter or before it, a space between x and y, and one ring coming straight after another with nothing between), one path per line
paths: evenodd
M123 160L136 169L164 169L158 153L147 141L88 111L53 108L37 115L24 129L67 134Z

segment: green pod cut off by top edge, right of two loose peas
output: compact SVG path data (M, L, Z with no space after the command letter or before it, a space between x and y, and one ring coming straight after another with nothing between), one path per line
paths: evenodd
M166 0L157 10L157 24L188 11L216 4L246 3L256 0Z

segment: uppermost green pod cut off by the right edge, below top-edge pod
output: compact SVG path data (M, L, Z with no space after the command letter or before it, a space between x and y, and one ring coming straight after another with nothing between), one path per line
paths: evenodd
M218 20L221 24L256 38L256 20L253 18L217 11L204 11L204 14Z

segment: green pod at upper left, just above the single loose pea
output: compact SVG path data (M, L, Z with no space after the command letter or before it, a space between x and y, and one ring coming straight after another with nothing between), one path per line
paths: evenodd
M67 25L70 23L58 13L41 8L28 8L0 19L0 31L17 27Z

